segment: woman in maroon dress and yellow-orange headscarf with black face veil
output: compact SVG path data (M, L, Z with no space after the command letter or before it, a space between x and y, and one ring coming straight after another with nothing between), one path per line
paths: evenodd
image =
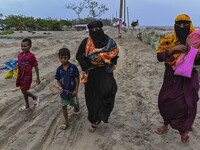
M163 85L158 97L158 107L164 124L156 132L165 133L170 125L177 129L183 143L189 143L188 132L197 113L199 100L199 75L193 68L191 78L174 75L174 65L182 52L188 53L190 47L186 45L186 38L195 31L190 17L181 14L176 17L174 34L162 38L157 49L159 61L165 61L165 74ZM195 65L200 65L199 53L196 54Z

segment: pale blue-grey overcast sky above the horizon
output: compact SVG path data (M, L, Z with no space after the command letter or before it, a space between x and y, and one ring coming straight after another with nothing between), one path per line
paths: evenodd
M83 0L0 0L0 13L8 15L25 15L34 18L75 19L73 10L65 5L78 5ZM119 16L120 0L94 0L105 4L109 11L101 18ZM136 19L140 26L173 26L179 14L188 14L194 26L200 27L200 0L126 0L130 23ZM88 10L83 10L81 18L86 18ZM127 16L127 15L126 15Z

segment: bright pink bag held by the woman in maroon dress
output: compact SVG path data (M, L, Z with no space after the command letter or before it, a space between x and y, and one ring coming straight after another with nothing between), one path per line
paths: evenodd
M187 56L185 53L181 53L181 55L177 59L176 69L175 69L174 74L191 78L191 73L192 73L194 60L195 60L197 52L198 52L198 49L191 47Z

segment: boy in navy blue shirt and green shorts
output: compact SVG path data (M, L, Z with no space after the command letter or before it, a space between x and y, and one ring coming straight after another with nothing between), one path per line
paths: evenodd
M78 102L78 86L79 86L79 71L76 65L69 62L70 51L67 48L61 48L58 53L60 65L57 68L55 79L58 83L59 93L61 97L61 105L65 123L61 125L61 129L65 130L69 127L67 105L74 107L74 112L79 111Z

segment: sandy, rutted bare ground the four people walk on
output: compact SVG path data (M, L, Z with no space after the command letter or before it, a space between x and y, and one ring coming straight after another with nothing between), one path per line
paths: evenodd
M33 83L31 92L40 96L39 107L19 112L24 105L23 95L15 87L16 79L4 79L7 70L0 70L0 149L1 150L197 150L200 147L200 112L197 112L190 132L190 143L181 143L178 131L172 128L164 135L155 133L163 121L157 100L162 85L164 63L156 58L156 50L135 38L131 32L104 27L104 32L119 45L118 66L114 72L118 84L114 110L108 124L100 124L94 132L88 132L84 86L79 86L80 111L69 108L70 127L59 129L62 115L58 87L54 79L60 65L57 53L62 47L71 50L70 62L80 66L75 54L81 41L88 36L85 31L62 31L43 34L44 31L14 33L9 38L32 38L32 53L40 70L41 84ZM8 36L5 36L8 38ZM0 66L17 59L20 43L0 43ZM198 103L198 108L200 104Z

